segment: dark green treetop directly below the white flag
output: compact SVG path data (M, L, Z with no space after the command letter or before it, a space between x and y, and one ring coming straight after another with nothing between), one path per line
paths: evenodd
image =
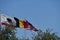
M18 40L15 33L15 30L9 27L1 28L0 40Z

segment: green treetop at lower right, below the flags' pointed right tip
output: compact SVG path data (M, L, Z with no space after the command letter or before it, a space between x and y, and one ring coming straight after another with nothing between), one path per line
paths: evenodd
M60 37L55 33L51 33L49 30L46 30L46 32L39 30L37 35L33 36L33 40L60 40Z

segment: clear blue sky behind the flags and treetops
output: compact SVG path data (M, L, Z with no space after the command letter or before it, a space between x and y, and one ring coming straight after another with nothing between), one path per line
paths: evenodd
M53 29L60 36L60 0L0 0L0 10L10 17L27 19L43 31ZM17 36L23 30L17 28ZM28 36L31 34L26 32Z

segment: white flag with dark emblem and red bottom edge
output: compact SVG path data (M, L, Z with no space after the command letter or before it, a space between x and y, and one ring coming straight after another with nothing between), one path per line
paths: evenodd
M5 26L9 26L9 27L15 27L16 22L14 20L14 18L8 17L4 14L0 14L0 24L5 25Z

